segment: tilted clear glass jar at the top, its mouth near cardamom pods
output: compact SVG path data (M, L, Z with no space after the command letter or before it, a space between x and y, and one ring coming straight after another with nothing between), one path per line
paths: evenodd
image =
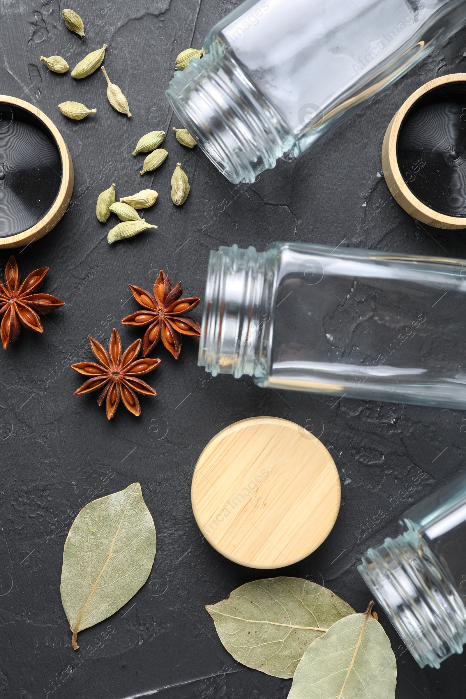
M235 184L292 159L465 22L466 0L249 0L166 92Z

